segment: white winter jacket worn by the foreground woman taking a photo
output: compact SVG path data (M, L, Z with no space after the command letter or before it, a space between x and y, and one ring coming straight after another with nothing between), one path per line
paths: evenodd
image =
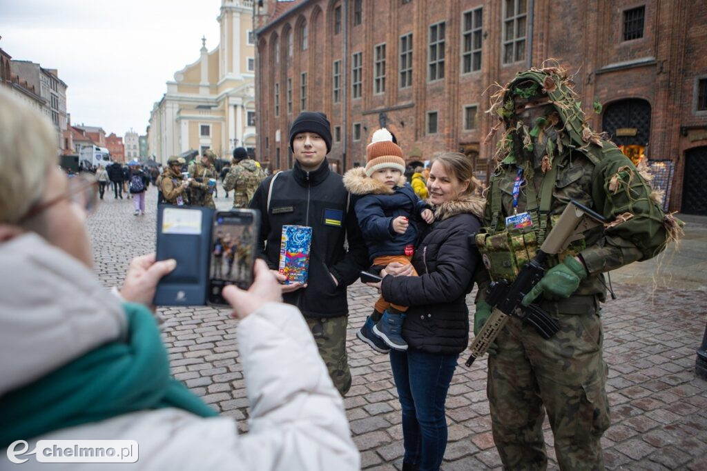
M0 280L0 400L126 330L122 306L95 275L34 234L0 244ZM238 323L238 345L252 407L247 434L238 434L233 419L169 408L17 439L28 451L40 439L137 441L139 460L121 470L359 469L343 402L297 309L266 304ZM28 461L15 465L0 450L0 469L42 464L33 455L17 458Z

